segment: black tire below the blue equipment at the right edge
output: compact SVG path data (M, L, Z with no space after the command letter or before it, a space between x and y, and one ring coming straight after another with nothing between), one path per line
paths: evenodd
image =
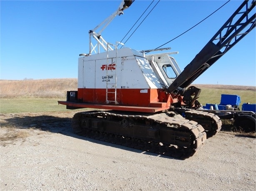
M235 118L234 125L244 132L255 132L256 119L251 115L240 115Z

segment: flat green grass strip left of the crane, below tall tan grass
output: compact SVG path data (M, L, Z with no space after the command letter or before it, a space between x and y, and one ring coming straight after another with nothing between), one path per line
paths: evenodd
M45 99L45 98L0 99L0 113L66 111L66 106L58 105L58 100L65 100L65 99Z

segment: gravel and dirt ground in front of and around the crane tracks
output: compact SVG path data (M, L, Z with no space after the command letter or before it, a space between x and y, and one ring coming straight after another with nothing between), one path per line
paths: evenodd
M75 112L0 115L1 191L256 188L255 137L219 132L178 160L75 135Z

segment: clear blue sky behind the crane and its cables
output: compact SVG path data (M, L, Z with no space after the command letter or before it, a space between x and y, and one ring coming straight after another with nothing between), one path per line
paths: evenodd
M1 0L0 79L77 78L78 55L89 52L88 31L111 15L120 2ZM133 2L124 11L124 15L115 17L103 31L104 39L112 44L123 39L151 2ZM155 0L152 5L157 2ZM225 2L161 0L125 43L125 47L136 50L159 47L193 27ZM181 70L198 54L241 2L231 0L197 27L163 46L179 52L173 57ZM153 6L149 10L151 8ZM256 29L253 29L194 83L256 86L255 65Z

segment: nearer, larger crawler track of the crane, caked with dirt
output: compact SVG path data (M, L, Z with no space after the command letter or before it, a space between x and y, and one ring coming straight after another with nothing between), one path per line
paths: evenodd
M191 157L206 140L201 125L174 112L129 115L118 111L76 113L75 133L179 159Z

